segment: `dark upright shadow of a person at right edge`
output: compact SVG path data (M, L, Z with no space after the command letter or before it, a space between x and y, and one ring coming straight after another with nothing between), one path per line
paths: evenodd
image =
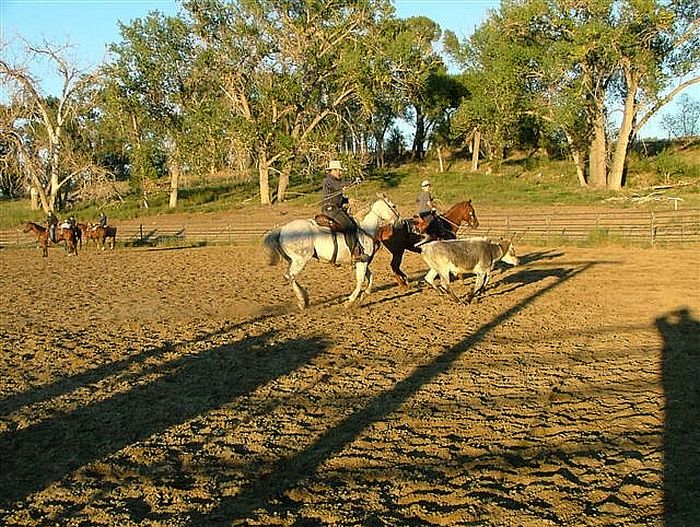
M664 523L700 525L700 320L681 308L656 327L664 341Z

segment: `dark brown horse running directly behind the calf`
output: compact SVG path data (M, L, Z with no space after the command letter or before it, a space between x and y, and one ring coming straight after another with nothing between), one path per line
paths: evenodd
M399 287L408 287L408 277L401 270L404 252L420 253L420 245L426 240L454 239L464 222L472 229L479 227L471 200L455 203L445 214L438 214L430 223L420 216L414 216L396 225L382 227L377 237L391 252L391 270Z

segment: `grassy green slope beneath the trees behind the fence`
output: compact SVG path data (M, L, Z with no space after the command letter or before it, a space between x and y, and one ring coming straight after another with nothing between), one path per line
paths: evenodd
M549 161L538 156L512 155L498 166L483 163L476 173L470 172L466 158L454 156L447 160L444 169L440 172L439 163L433 158L388 166L365 174L365 182L349 193L351 197L366 199L376 192L386 192L403 211L410 211L421 180L429 179L434 196L445 206L470 198L480 205L505 207L581 205L668 209L674 203L684 208L700 207L700 141L662 151L655 142L643 145L630 155L627 185L619 193L581 188L570 161ZM323 173L319 172L313 179L293 180L289 204L318 204L322 178ZM674 202L676 198L679 201ZM157 214L217 212L257 204L255 180L223 181L208 186L187 185L181 190L175 210L168 209L168 195L164 190L151 195L148 209L141 208L136 193L127 193L125 201L108 204L105 211L110 220L118 220ZM79 221L98 215L95 205L77 206L70 212ZM63 212L59 216L67 214ZM14 227L27 220L43 221L44 213L31 211L28 200L0 202L0 228Z

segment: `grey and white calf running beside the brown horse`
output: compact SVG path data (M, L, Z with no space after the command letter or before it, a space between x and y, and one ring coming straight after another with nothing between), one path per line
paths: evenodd
M451 276L465 273L476 275L474 290L467 297L467 302L471 302L486 288L497 262L518 265L518 257L510 240L495 242L484 237L430 242L423 246L421 256L430 267L425 281L438 291L448 293L456 302L460 302L460 299L450 288ZM437 276L440 276L439 286L435 284Z

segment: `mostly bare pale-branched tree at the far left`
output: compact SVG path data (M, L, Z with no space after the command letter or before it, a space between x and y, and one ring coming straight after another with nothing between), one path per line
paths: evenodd
M18 163L39 193L43 209L57 210L62 187L92 167L89 160L74 155L67 130L79 127L80 115L90 108L90 98L85 94L94 87L95 77L69 60L68 45L22 41L23 60L16 63L5 58L8 49L9 44L3 43L0 81L9 87L11 105L19 111L13 114L14 123L8 124L5 132L13 138ZM48 65L58 79L58 95L45 93L46 79L28 64ZM43 174L39 167L45 168Z

